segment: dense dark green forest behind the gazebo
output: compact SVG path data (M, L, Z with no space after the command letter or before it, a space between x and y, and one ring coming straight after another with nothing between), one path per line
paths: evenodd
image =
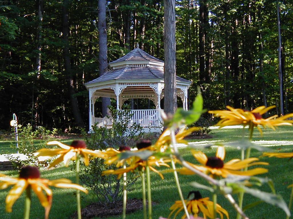
M9 130L12 113L20 124L62 131L87 126L83 84L99 76L97 5L93 0L0 1L0 129ZM207 109L276 105L273 114L292 112L292 27L292 1L176 1L176 74L193 81L189 101L200 86ZM137 43L163 60L163 1L108 1L107 34L108 62ZM149 104L134 103L135 109ZM100 114L101 103L95 108Z

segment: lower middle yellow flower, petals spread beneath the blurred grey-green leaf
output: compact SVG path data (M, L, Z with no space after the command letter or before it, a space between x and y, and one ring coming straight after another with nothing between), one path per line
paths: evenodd
M144 171L145 167L147 165L149 165L149 168L151 171L154 171L155 173L158 173L160 175L160 177L162 179L164 179L162 173L160 173L159 171L157 171L154 167L154 165L156 166L167 166L170 167L168 164L166 164L166 162L170 162L171 160L163 160L163 159L157 159L154 156L149 157L149 159L147 161L144 161L142 159L140 159L139 157L134 157L130 166L126 167L126 168L120 168L117 170L106 170L103 171L102 175L109 175L109 174L116 174L118 175L118 179L121 178L121 176L123 175L123 173L128 173L128 172L134 172L136 170L138 171Z

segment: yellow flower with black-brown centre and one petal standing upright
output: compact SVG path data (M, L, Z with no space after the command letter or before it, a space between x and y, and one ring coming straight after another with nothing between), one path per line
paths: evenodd
M255 168L247 171L241 171L241 169L245 167L255 166L255 165L268 165L266 162L254 162L258 161L258 158L248 158L244 160L240 159L232 159L228 161L227 163L224 163L225 158L225 148L224 147L218 147L216 157L207 157L203 152L201 151L191 151L195 159L202 164L202 166L195 165L189 163L189 165L193 166L194 168L212 175L218 175L226 178L228 174L234 174L234 175L247 175L247 176L253 176L257 174L267 173L268 170L265 168ZM183 167L178 170L181 174L186 175L192 175L195 174L193 171L190 171L189 169Z

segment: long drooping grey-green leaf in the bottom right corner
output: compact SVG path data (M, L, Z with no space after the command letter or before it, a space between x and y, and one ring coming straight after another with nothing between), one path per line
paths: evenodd
M286 202L284 201L284 199L282 198L281 195L272 194L272 193L268 193L268 192L262 192L260 190L251 189L251 188L248 188L248 187L245 187L245 186L243 186L243 189L245 190L246 193L251 194L254 197L257 197L260 200L263 200L268 204L278 206L283 211L285 211L287 216L291 215L290 211L289 211L289 208L288 208Z

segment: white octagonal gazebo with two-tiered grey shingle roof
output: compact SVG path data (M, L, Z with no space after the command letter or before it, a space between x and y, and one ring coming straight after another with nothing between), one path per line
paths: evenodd
M125 100L147 98L156 109L131 110L131 122L139 123L145 132L161 131L161 105L164 97L164 62L141 50L138 46L127 55L109 63L109 71L85 84L89 94L89 131L98 127L111 127L107 117L95 117L94 103L99 97L116 100L121 109ZM176 77L177 96L187 110L187 91L191 81Z

